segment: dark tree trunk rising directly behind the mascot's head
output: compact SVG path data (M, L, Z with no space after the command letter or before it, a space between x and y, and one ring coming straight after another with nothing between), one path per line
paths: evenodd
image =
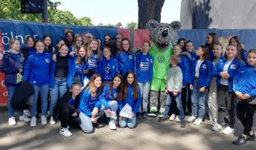
M138 28L146 28L148 20L157 20L157 22L160 23L164 1L165 0L138 0Z

